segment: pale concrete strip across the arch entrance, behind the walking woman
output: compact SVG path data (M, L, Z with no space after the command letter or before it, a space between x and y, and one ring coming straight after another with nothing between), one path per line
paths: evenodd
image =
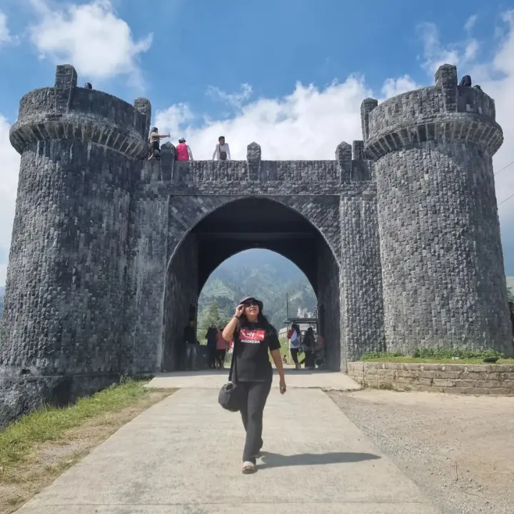
M209 388L217 389L226 383L228 369L178 371L175 373L160 373L148 384L150 388ZM286 368L286 382L288 388L319 388L323 390L359 390L361 385L353 381L344 373L333 371L306 370L295 371L292 367ZM278 376L275 372L275 380Z

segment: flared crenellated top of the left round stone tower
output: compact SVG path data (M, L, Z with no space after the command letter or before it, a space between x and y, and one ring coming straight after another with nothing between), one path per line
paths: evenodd
M145 156L150 102L137 99L131 105L76 84L73 66L57 66L54 87L36 89L21 99L18 121L10 132L16 151L22 153L36 141L76 139L98 143L129 158Z

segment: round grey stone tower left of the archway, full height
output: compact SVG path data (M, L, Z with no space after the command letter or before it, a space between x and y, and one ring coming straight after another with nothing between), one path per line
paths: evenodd
M130 197L151 106L76 84L73 66L57 66L55 86L26 94L11 128L21 165L0 329L11 404L0 423L123 371Z

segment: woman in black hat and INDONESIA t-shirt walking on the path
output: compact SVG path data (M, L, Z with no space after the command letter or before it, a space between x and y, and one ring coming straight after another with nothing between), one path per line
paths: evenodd
M235 315L223 329L223 338L234 341L236 381L243 391L241 418L246 430L243 473L253 473L263 445L263 411L273 381L268 351L280 376L280 392L286 392L280 342L276 329L263 315L263 303L253 296L245 296L238 303Z

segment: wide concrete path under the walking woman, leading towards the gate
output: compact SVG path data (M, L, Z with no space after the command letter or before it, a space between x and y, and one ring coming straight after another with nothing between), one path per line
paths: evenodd
M437 514L318 389L273 390L265 454L241 474L243 427L214 388L178 390L125 425L21 514Z

